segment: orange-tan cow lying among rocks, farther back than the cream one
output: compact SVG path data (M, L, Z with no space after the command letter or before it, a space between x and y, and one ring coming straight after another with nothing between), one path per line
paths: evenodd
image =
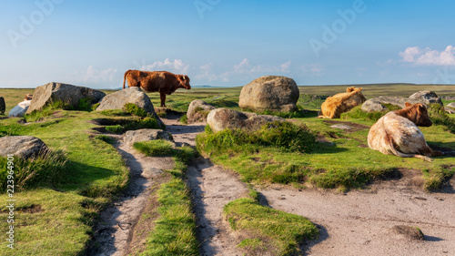
M367 100L361 90L362 88L348 87L346 92L328 97L320 107L319 118L339 118L341 113L359 106Z

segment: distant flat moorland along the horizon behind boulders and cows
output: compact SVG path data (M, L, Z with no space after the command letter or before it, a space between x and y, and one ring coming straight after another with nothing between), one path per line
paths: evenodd
M415 84L371 84L371 85L339 85L339 86L309 86L298 87L300 94L309 95L328 95L332 96L340 92L345 92L346 87L363 87L363 95L367 98L379 96L399 96L409 97L411 94L421 90L435 91L438 96L455 96L455 85L415 85ZM188 102L194 99L211 101L212 99L222 99L226 102L238 102L242 87L193 87L191 90L178 89L174 94L167 96L167 105L176 110L186 111ZM34 88L1 89L0 97L5 97L7 114L17 103L24 100L27 93L33 94ZM102 90L106 94L116 92L116 90ZM159 107L159 94L147 93L155 107ZM299 101L299 104L301 102ZM236 106L218 106L236 108Z

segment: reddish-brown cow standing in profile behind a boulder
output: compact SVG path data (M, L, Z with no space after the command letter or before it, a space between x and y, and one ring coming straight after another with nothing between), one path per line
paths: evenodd
M177 88L190 89L189 77L175 75L167 71L140 71L128 70L123 77L123 88L125 81L129 87L141 87L147 92L159 92L161 107L166 107L166 95L174 93Z

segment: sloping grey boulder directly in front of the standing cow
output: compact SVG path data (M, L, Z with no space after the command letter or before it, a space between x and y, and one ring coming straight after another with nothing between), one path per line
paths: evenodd
M103 97L103 100L101 100L96 111L122 109L126 103L133 103L137 107L143 108L153 118L157 119L159 126L165 127L163 121L157 116L150 98L140 89L140 87L128 87Z

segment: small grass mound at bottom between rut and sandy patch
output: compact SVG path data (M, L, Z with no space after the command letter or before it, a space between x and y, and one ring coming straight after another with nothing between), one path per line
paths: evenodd
M224 215L240 237L238 244L248 255L293 255L298 245L319 235L316 226L304 217L274 210L251 198L227 203Z

